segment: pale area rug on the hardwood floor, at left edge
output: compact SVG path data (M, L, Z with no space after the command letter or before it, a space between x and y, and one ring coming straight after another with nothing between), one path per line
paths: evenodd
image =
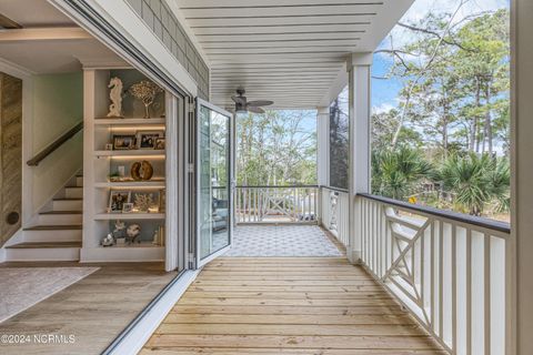
M0 267L0 323L100 267Z

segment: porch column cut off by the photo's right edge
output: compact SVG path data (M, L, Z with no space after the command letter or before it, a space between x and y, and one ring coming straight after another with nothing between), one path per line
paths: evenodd
M511 4L511 242L515 242L515 248L507 255L516 256L516 280L510 280L506 284L511 290L516 286L516 300L511 300L516 305L513 310L516 332L511 331L507 338L511 341L512 335L516 334L515 354L525 355L533 354L533 1L515 0Z

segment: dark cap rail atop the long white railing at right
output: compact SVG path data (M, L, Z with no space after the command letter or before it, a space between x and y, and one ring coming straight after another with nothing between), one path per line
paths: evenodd
M402 209L405 209L405 210L411 210L411 211L415 211L415 212L431 214L431 215L435 215L435 216L439 216L439 217L457 221L457 222L461 222L461 223L477 225L477 226L481 226L481 227L484 227L484 229L487 229L487 230L499 231L499 232L503 232L503 233L511 233L511 225L506 222L489 220L489 219L479 217L479 216L475 216L475 215L469 215L469 214L459 213L459 212L439 210L439 209L435 209L435 207L429 207L429 206L423 206L423 205L420 205L420 204L408 203L408 202L398 201L398 200L383 197L383 196L379 196L379 195L372 195L372 194L369 194L369 193L358 193L358 196L365 197L365 199L369 199L369 200L379 201L379 202L390 204L390 205L393 205L393 206L398 206L398 207L402 207Z

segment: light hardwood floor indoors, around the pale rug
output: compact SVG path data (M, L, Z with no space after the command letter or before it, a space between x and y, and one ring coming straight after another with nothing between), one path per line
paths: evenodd
M100 354L177 275L163 263L4 263L0 267L100 270L0 323L0 334L74 336L71 344L0 344L0 354ZM1 302L1 300L0 300Z

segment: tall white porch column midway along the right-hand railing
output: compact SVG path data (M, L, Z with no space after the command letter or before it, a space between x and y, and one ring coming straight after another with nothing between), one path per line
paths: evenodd
M370 68L372 53L353 53L348 60L350 110L350 246L351 263L361 258L361 211L358 193L370 192Z

